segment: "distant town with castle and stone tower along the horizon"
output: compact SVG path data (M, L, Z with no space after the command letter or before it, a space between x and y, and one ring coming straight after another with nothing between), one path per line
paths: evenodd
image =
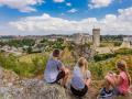
M111 38L110 38L111 37ZM107 40L108 38L108 40ZM22 44L21 46L16 46L15 43L20 43L21 41L31 42L33 44ZM48 48L48 45L44 43L46 41L57 42L58 40L64 43L75 43L77 45L80 44L90 44L90 47L96 50L98 53L111 53L112 51L119 48L132 48L132 35L101 35L100 29L92 29L92 35L89 33L75 33L70 35L25 35L25 36L0 36L0 51L12 53L14 55L22 55L31 48L31 52L44 52ZM45 42L44 42L45 41ZM9 44L12 42L12 45ZM105 45L105 42L108 43L108 46ZM117 45L116 45L117 44ZM18 44L19 45L19 44Z

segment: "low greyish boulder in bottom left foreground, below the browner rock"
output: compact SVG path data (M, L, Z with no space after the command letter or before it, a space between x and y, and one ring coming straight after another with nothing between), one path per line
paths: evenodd
M15 86L0 87L2 99L67 99L65 89L47 85L42 80L21 80Z

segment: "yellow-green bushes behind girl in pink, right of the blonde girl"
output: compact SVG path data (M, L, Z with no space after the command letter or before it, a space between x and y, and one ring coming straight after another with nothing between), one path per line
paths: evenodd
M89 62L89 70L92 74L92 79L96 79L96 80L103 79L106 74L111 70L118 74L118 70L116 68L116 63L118 59L123 59L127 62L129 74L132 78L132 55L129 55L129 56L119 55L114 58L107 59L107 61L101 61L97 63Z

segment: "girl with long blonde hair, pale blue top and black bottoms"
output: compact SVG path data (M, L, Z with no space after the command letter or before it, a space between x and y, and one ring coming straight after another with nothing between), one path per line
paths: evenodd
M85 57L80 57L77 65L74 67L70 90L77 97L82 97L87 94L91 74L88 70L88 62Z

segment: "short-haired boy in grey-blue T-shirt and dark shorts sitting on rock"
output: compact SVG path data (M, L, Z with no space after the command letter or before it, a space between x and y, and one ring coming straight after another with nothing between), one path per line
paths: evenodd
M69 75L68 68L64 66L64 64L59 61L61 51L54 50L52 56L50 57L46 68L44 72L44 79L48 84L56 84L61 79L62 85L66 87L67 78Z

